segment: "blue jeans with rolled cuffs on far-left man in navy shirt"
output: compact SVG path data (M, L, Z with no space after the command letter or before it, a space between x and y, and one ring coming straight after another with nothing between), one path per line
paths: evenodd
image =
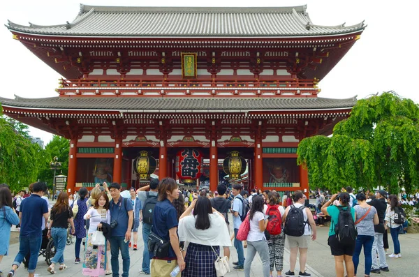
M38 263L39 250L41 249L42 236L24 236L19 238L19 253L15 257L13 264L20 266L27 253L30 254L28 272L34 273Z

